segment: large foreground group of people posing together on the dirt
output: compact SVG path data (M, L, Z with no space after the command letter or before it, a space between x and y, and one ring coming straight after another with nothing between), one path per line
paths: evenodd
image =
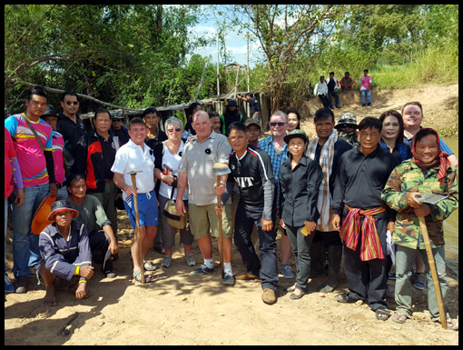
M67 106L78 107L76 95L63 95L64 115L58 116L57 124L53 118L45 122L46 98L43 88L34 87L26 100L26 112L5 120L5 145L7 138L15 140L15 146L5 147L5 208L14 184L18 189L13 204L16 293L27 290L32 268L44 282L45 304L56 304L57 286L69 286L77 298L87 296L85 285L93 275L95 256L106 274L117 259L117 217L110 206L122 193L133 229L137 225L133 196L138 202L142 252L136 235L131 247L136 281L142 280L143 270L159 268L143 261L142 269L139 260L158 233L164 253L161 265L169 268L172 264L177 228L163 209L173 199L173 216L189 217L180 230L186 264L196 265L194 240L202 253L203 264L192 275L214 272L212 235L221 247L223 285L234 285L237 279L261 279L262 301L274 304L279 281L276 237L281 229L283 277L294 277L291 252L295 258L296 283L288 288L291 299L300 299L309 279L317 276L326 277L318 290L333 292L343 259L349 292L335 295L336 300L368 300L376 318L386 320L391 313L385 298L395 297L398 307L392 320L404 323L412 314L411 267L420 256L424 265L420 273L428 280L429 312L438 321L418 216L426 218L445 303L448 281L442 222L458 208L458 160L436 131L420 126L423 111L418 102L404 105L401 114L389 110L359 124L351 113L340 115L336 124L331 109L320 108L313 117L316 133L312 137L300 129L297 110L276 111L269 122L271 135L261 138L261 120L243 120L232 100L223 115L208 114L201 105L194 105L190 119L168 118L165 133L152 107L144 111L143 118L131 119L123 131L115 118L111 127L109 111L98 110L94 129L85 133L76 108L74 119L67 115ZM74 141L59 133L63 118L67 118L65 124L74 126ZM187 133L185 127L190 128ZM123 137L116 134L125 132L129 138L123 143ZM44 143L42 153L38 141ZM73 142L76 145L70 145ZM57 168L63 164L63 149L74 160L69 162L64 156L64 164L70 166L65 184L59 175L66 172ZM54 161L56 154L60 162ZM212 170L216 164L228 166L231 172L220 175L217 183ZM137 188L132 185L134 172ZM59 195L63 185L68 195L52 205L48 219L53 224L40 235L32 235L36 207L48 192ZM419 194L429 193L446 197L435 205L419 202ZM218 197L222 203L217 203ZM388 249L388 233L396 251ZM242 275L232 271L232 239L246 268ZM387 286L388 255L396 263L393 294ZM5 274L5 291L6 278ZM144 279L150 282L153 275L144 275ZM458 329L456 321L446 316L448 327Z

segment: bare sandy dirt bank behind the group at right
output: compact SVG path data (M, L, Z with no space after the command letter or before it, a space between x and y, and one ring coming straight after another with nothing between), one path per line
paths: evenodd
M445 128L458 123L458 84L452 85L424 85L421 88L400 90L371 90L371 105L361 106L361 97L358 90L340 94L340 109L333 112L338 120L342 113L351 112L357 116L357 122L366 116L379 117L389 109L399 112L402 106L411 101L418 101L423 105L423 125L435 129ZM334 104L334 99L333 99ZM310 135L315 134L313 115L322 108L318 96L313 96L304 102L301 108L303 117L302 128ZM458 130L457 130L458 135Z

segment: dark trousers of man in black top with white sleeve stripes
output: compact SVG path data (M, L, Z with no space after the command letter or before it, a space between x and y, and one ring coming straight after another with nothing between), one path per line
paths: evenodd
M273 217L273 228L271 231L264 231L261 223L262 212L263 206L245 205L243 202L238 204L235 216L234 241L248 273L261 277L262 289L270 288L275 291L279 278L275 249L275 238L277 237L275 220ZM275 210L273 210L273 213L275 213ZM256 225L257 233L259 234L261 260L256 255L254 245L252 245L251 241L254 225Z

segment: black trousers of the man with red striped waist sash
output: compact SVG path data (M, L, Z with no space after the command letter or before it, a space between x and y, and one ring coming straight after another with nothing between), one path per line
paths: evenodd
M349 213L344 209L344 218ZM363 225L364 216L360 215L360 227ZM360 247L361 235L357 249L354 251L344 245L344 270L349 282L350 294L354 298L365 300L368 298L369 307L375 311L380 306L387 306L386 302L382 299L386 291L388 283L388 275L386 273L387 259L386 259L386 227L389 218L386 212L374 216L376 221L376 229L379 235L384 259L373 259L369 261L361 261Z

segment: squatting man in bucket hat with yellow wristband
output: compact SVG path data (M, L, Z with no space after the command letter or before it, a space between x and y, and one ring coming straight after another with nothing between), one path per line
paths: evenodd
M39 235L39 274L46 289L45 305L57 304L56 287L69 287L77 299L90 296L86 285L94 275L92 253L85 225L73 220L77 215L67 199L54 202L48 216L54 223Z

